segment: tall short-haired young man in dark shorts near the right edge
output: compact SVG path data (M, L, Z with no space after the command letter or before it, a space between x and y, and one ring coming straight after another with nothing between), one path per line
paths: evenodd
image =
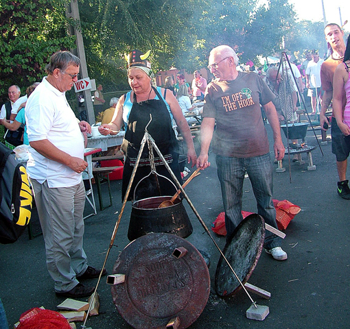
M320 127L327 130L328 119L326 111L333 98L333 78L336 67L342 63L345 54L344 32L338 24L329 23L325 27L325 39L331 46L331 56L323 62L320 71L321 85L324 90L321 109L320 109ZM342 111L345 109L347 99L345 93L342 93ZM338 127L334 112L331 119L331 151L336 155L336 166L338 170L339 181L337 183L337 192L340 197L350 200L349 180L347 180L347 158L350 149L344 140L344 135Z

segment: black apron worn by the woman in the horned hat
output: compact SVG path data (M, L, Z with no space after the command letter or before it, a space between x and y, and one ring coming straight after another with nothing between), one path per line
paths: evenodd
M172 120L170 113L167 110L167 106L163 101L161 95L159 95L156 88L152 87L159 99L148 99L137 103L136 95L134 93L134 99L132 101L132 108L128 119L128 126L124 136L121 149L126 154L126 160L124 163L123 182L121 187L121 199L123 200L126 194L126 189L130 181L132 170L135 167L137 155L141 147L141 141L145 134L145 126L150 121L150 114L152 114L152 121L148 125L148 132L154 139L156 146L163 154L165 160L170 165L170 168L176 175L179 182L182 181L180 168L178 166L178 142L174 130L172 128ZM165 97L165 96L164 96ZM171 181L170 173L165 168L162 160L159 158L155 149L153 149L154 163L156 164L156 172L160 175L164 175ZM134 197L135 186L142 178L145 178L151 171L148 144L145 144L141 154L141 160L137 167L135 178L132 182L128 200L132 200ZM147 197L154 197L159 195L174 195L176 189L171 182L165 180L165 178L158 177L158 184L154 175L150 175L145 180L142 180L141 184L137 186L135 193L135 199L145 199Z

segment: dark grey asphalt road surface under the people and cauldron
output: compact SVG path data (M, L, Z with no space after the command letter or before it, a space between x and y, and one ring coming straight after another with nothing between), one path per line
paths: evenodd
M270 126L266 125L266 128L271 139ZM320 138L320 130L316 134ZM307 132L306 141L308 145L317 146L312 131ZM316 170L307 171L307 161L302 165L292 162L289 173L288 158L285 158L283 165L287 170L284 173L274 173L274 198L288 199L300 206L301 212L285 230L287 235L282 246L288 252L288 260L279 262L262 252L248 281L271 293L270 300L252 295L257 304L270 308L270 314L264 321L246 318L250 300L243 291L226 299L215 294L213 284L219 253L184 201L194 226L194 232L187 240L197 249L207 252L211 259L209 300L189 328L349 328L350 201L340 198L336 192L338 175L335 157L331 154L331 143L323 145L322 149L323 156L318 148L312 151ZM303 158L307 160L305 155ZM210 155L210 160L211 167L202 171L186 187L191 202L209 228L222 212L220 184L213 154ZM277 164L274 164L274 168L277 168ZM113 181L112 189L113 206L103 211L98 210L97 215L89 217L85 222L84 247L89 264L94 267L102 267L104 263L121 210L121 182ZM98 202L97 193L95 199ZM112 271L119 253L129 243L126 235L130 209L128 203L121 217L115 246L106 263L108 272ZM256 211L248 179L244 182L243 210ZM34 231L40 232L35 212L33 217ZM215 234L213 236L218 245L224 247L225 238ZM29 240L25 232L16 243L1 245L0 276L0 296L10 328L26 310L36 306L56 310L56 306L64 300L56 297L54 284L47 273L42 235ZM96 280L91 280L91 284L95 282ZM89 317L86 326L93 329L131 328L117 312L110 286L105 279L100 283L98 293L100 315ZM80 328L80 324L77 324L77 328Z

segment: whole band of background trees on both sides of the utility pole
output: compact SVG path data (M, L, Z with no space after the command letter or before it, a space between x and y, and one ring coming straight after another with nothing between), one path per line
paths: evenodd
M71 0L78 1L78 0ZM75 47L65 16L69 0L1 0L0 93L40 81L49 56ZM278 56L281 41L296 56L325 45L322 23L296 21L288 0L79 0L89 76L105 91L127 88L124 54L151 50L154 71L194 71L209 51L230 45L241 62Z

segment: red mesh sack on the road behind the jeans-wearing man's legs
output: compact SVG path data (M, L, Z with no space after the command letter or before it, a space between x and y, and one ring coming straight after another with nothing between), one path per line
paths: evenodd
M277 227L279 230L285 230L290 221L301 210L301 208L295 204L292 204L292 202L289 202L288 200L279 201L274 199L272 201L276 208ZM250 214L253 214L253 212L242 211L243 218L246 218ZM218 217L216 217L215 221L211 225L211 230L213 230L213 232L216 234L226 236L224 212L220 212Z

